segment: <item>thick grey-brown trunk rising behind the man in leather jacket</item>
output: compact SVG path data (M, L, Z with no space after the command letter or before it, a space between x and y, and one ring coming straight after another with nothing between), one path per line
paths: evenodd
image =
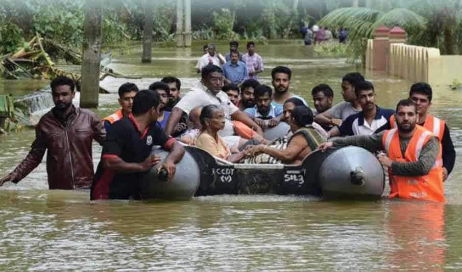
M100 90L102 0L86 0L82 43L81 107L98 107Z

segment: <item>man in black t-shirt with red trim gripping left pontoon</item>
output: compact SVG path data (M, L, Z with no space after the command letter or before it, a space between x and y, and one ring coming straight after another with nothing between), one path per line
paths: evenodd
M172 179L175 163L183 157L184 149L156 124L159 100L154 91L138 92L132 113L111 126L91 186L91 200L139 199L141 176L160 161L159 156L150 155L155 145L170 151L162 168Z

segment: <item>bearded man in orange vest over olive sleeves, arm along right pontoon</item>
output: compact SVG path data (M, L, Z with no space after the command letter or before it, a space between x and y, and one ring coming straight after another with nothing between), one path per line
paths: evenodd
M390 198L444 202L443 169L440 141L435 134L417 125L414 101L403 99L396 106L397 128L378 134L358 135L321 144L328 147L360 146L377 155L388 168Z

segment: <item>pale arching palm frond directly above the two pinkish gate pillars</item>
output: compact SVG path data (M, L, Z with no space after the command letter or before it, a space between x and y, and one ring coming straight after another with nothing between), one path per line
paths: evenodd
M399 25L406 31L410 28L425 28L426 19L419 14L408 9L393 9L377 19L372 25L372 29L380 25L386 25L389 28Z

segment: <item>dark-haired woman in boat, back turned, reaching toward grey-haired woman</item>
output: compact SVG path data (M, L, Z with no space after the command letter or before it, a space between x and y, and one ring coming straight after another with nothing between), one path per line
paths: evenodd
M306 155L325 142L317 129L312 126L313 113L305 105L296 106L291 111L288 123L293 132L287 147L278 149L266 145L249 146L247 151L255 156L265 153L275 157L286 165L301 165Z

